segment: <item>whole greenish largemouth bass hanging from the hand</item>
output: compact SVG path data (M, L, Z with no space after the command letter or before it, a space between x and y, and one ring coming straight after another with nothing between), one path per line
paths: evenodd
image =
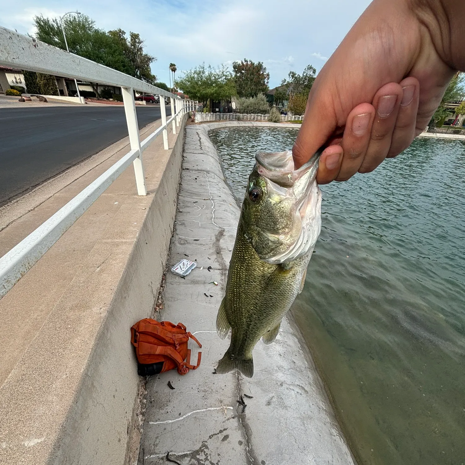
M289 150L255 157L216 319L221 339L232 330L217 373L237 368L251 378L253 348L260 338L265 344L276 339L281 319L302 291L321 230L315 179L320 154L298 170Z

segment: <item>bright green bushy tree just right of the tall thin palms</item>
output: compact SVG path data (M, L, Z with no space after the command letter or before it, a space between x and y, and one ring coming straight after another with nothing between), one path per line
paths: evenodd
M184 76L178 80L178 86L189 95L191 99L199 100L204 108L211 100L226 100L236 94L236 86L233 74L225 65L213 68L205 63L186 71Z

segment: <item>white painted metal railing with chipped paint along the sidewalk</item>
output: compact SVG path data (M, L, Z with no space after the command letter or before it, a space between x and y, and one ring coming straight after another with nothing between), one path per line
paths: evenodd
M143 151L160 134L163 135L163 146L167 150L169 124L173 124L175 134L184 114L195 110L197 104L193 100L180 99L159 87L4 27L0 27L0 66L121 87L131 145L129 153L0 258L1 299L131 163L134 167L137 193L146 195ZM142 142L139 138L134 91L160 97L161 126ZM171 101L172 116L169 119L166 119L165 97L169 97Z

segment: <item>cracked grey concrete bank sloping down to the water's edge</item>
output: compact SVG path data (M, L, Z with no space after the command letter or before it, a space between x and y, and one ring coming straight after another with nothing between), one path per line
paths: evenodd
M202 363L185 376L171 371L148 379L137 463L165 463L170 452L182 465L353 465L321 379L289 319L283 319L273 344L257 344L252 379L236 372L214 374L229 345L217 336L215 320L226 288L239 207L208 130L244 124L268 125L186 126L168 266L188 258L197 262L197 268L186 279L167 272L164 309L158 319L184 323L203 344ZM196 360L199 349L195 344L190 348ZM244 412L238 404L241 394L253 397L244 397Z

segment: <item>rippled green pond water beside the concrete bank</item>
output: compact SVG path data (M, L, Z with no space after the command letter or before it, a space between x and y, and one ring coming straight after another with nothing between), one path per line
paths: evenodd
M258 150L297 131L212 131L243 198ZM321 186L322 230L292 313L359 464L465 463L465 145L417 139Z

